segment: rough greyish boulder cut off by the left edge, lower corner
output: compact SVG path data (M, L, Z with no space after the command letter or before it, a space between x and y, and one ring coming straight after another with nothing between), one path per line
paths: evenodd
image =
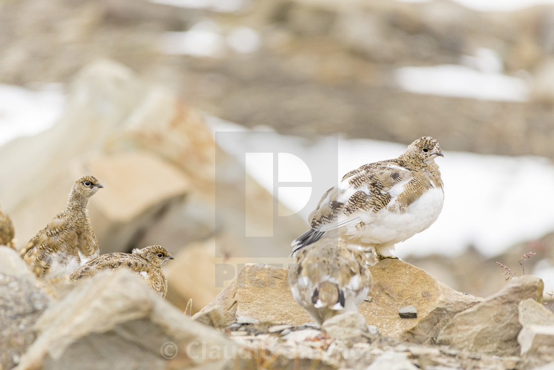
M0 368L11 369L34 342L34 323L50 297L20 256L0 246Z

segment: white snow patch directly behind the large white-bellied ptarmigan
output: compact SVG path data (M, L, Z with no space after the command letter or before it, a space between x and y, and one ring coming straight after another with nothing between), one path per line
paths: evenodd
M214 131L245 131L242 126L230 124L214 117L207 117ZM278 141L286 152L290 146L301 147L306 156L325 151L329 140L322 136L316 141L274 133L268 140ZM263 152L268 142L241 140L223 144L223 149L240 160L244 151ZM272 143L271 146L275 145ZM247 149L245 149L247 148ZM337 182L351 169L365 163L394 158L406 150L406 145L373 140L339 138ZM505 157L477 155L445 151L444 158L437 158L445 184L444 208L437 222L429 229L397 245L395 254L427 255L439 253L458 255L469 245L474 245L486 256L501 253L510 246L530 239L540 238L554 229L554 165L542 157ZM259 177L264 164L250 162L248 172ZM288 171L305 171L295 162L288 162ZM326 166L326 163L321 163ZM332 171L333 169L330 168ZM540 173L540 177L537 177ZM540 178L540 179L539 179ZM259 179L259 178L258 178ZM537 179L531 183L530 179ZM259 179L266 188L273 188L272 179ZM306 183L309 185L309 183ZM327 184L327 187L335 184ZM526 198L522 189L535 189ZM310 202L299 211L303 219L315 208L322 194L311 194ZM279 201L297 209L305 204L306 193L288 191L279 193Z

